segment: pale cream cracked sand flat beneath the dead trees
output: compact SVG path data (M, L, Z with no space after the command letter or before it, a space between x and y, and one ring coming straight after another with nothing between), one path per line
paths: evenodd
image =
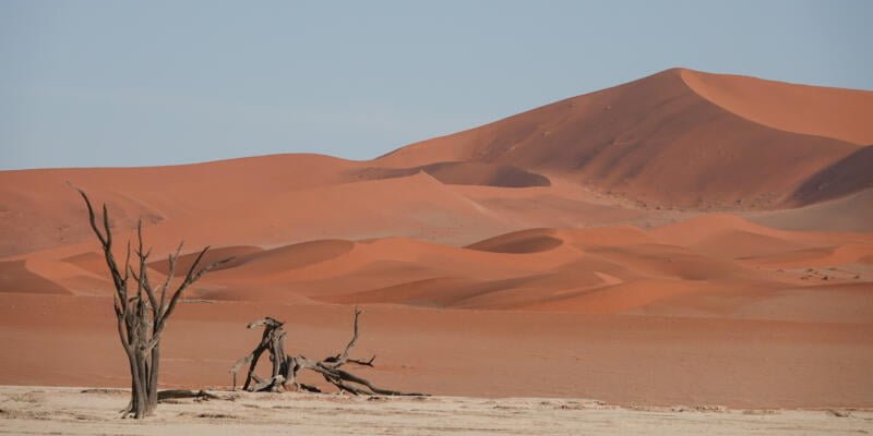
M121 389L0 387L0 434L53 435L571 435L869 434L870 410L622 408L596 400L214 392L162 403L146 421L118 419Z

